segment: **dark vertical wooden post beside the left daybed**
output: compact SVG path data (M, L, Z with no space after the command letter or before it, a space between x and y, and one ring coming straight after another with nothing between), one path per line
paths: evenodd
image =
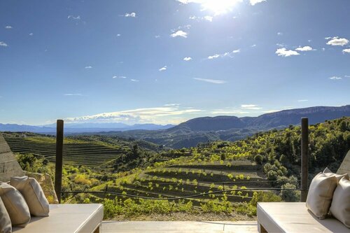
M63 120L57 120L55 191L56 191L56 195L59 203L61 203L62 166L63 166Z

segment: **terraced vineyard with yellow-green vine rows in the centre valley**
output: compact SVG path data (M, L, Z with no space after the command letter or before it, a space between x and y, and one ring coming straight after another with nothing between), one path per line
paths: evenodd
M193 202L194 206L200 206L209 200L220 202L227 200L232 204L249 202L253 196L252 190L228 191L225 192L225 195L223 192L215 193L215 191L240 188L263 189L271 188L271 185L265 179L261 167L248 160L232 161L230 166L219 162L191 165L172 164L166 167L148 168L136 176L108 183L110 192L141 197L177 198L209 193L209 195L187 198ZM106 185L99 187L99 190L106 190Z

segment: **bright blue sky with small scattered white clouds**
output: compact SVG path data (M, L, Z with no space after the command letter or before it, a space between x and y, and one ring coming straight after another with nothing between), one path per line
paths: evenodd
M0 1L0 123L350 104L348 0Z

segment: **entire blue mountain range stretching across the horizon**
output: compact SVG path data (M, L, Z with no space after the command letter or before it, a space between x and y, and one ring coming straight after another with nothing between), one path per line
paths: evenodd
M216 140L236 141L255 132L282 129L300 125L302 117L309 118L309 125L325 120L350 116L350 105L330 107L316 106L265 113L258 117L216 116L194 118L179 125L154 125L123 123L65 124L65 134L103 134L124 138L142 139L172 148L196 146L197 143ZM44 126L0 124L0 131L36 132L55 134L55 124Z

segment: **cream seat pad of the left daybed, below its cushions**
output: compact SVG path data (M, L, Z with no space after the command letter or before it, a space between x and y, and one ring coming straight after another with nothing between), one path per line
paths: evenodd
M102 204L50 204L49 217L33 217L25 228L13 228L13 232L80 232L90 233L102 223Z

